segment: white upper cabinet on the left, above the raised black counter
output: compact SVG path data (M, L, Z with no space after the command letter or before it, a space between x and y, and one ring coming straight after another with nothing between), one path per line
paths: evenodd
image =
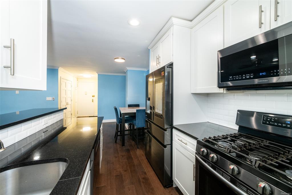
M46 90L47 1L0 1L0 88ZM14 40L14 52L11 46ZM13 66L11 68L3 66Z

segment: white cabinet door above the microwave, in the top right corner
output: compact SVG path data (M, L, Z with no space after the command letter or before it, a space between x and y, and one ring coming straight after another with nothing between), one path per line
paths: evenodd
M271 0L271 29L291 21L292 0Z

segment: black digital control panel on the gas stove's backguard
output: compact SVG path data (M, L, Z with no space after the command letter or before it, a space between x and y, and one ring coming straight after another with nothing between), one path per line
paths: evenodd
M264 115L262 124L292 129L292 118Z

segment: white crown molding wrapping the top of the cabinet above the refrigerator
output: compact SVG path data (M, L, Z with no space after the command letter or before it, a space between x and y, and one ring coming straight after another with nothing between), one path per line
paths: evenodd
M152 42L148 46L148 49L152 48L157 43L157 41L161 39L161 37L166 33L166 31L168 31L168 29L171 28L173 25L192 28L192 23L190 21L171 17L164 25L164 27L159 31L156 37L152 40Z

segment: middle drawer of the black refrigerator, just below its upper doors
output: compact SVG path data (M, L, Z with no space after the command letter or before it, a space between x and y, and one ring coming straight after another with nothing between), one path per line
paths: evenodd
M171 128L162 129L154 124L152 121L147 120L150 133L157 138L162 144L171 144Z

